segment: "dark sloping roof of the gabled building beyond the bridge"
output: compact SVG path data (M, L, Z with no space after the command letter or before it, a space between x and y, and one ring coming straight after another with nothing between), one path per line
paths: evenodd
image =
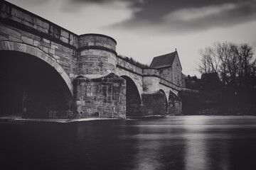
M174 62L174 57L177 54L177 51L171 52L166 55L160 55L158 57L154 57L149 67L151 68L161 68L161 67L169 67Z

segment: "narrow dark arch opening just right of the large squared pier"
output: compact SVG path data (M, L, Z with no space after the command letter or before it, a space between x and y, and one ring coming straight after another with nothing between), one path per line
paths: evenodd
M139 115L142 99L134 81L127 76L121 76L126 80L126 112L127 116Z

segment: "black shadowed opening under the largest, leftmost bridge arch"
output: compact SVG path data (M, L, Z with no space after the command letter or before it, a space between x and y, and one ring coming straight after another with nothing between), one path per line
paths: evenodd
M47 62L24 52L0 51L1 114L30 118L65 116L73 95L63 77Z

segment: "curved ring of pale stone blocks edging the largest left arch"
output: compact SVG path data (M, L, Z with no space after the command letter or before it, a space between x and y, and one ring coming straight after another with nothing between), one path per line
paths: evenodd
M38 57L39 59L43 60L44 62L50 64L51 67L53 67L63 78L65 81L65 84L68 86L68 89L70 89L70 93L73 95L73 84L70 80L70 77L68 77L68 74L64 71L64 69L53 60L52 57L50 57L46 52L43 52L38 47L33 47L31 45L26 45L19 42L11 42L11 41L1 41L0 42L0 51L16 51L16 52L23 52L28 55L32 55L35 57Z

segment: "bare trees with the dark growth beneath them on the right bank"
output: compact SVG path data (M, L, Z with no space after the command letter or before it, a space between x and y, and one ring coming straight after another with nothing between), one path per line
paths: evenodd
M233 106L255 106L256 60L251 45L215 42L199 54L196 70L201 74L218 74L220 102L222 99Z

